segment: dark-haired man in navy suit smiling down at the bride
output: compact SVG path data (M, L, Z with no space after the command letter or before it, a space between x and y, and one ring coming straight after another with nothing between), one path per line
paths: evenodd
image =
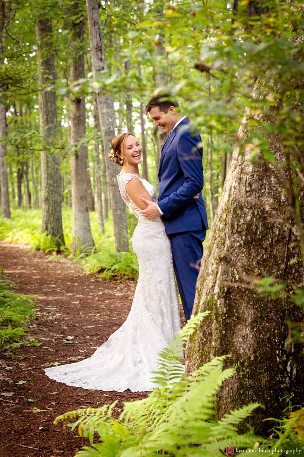
M148 207L141 213L149 219L163 217L185 318L190 319L197 267L203 255L202 242L208 229L206 207L201 196L204 186L201 137L190 131L190 121L186 116L181 117L174 97L153 97L145 111L155 127L170 132L170 135L161 150L158 204L142 198ZM196 194L199 194L198 199L193 199Z

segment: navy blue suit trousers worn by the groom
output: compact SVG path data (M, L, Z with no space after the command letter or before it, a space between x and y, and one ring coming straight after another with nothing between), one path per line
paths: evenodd
M171 242L176 282L185 318L188 320L192 314L196 280L203 255L202 242L206 238L206 230L181 232L168 236Z

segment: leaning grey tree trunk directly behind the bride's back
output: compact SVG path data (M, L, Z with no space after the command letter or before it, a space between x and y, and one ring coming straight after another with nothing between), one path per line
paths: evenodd
M99 72L107 69L97 0L87 0L87 11L93 73L94 77L96 77ZM103 135L103 145L106 152L109 152L111 149L111 140L115 136L113 96L98 93L96 100ZM116 175L119 173L119 167L110 160L107 160L106 164L113 213L115 251L128 251L126 211L124 201L119 193L116 178Z

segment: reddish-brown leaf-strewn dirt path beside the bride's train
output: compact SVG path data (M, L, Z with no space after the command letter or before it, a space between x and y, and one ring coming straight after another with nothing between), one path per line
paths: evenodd
M54 425L59 414L115 400L119 411L124 401L147 395L69 387L45 375L44 368L54 362L70 363L78 360L75 357L92 355L123 324L136 287L127 279L87 275L75 262L60 259L50 261L41 252L0 242L0 267L16 282L17 293L37 295L36 318L28 337L42 343L0 359L1 457L72 457L88 441L69 427L63 430L62 423ZM17 384L20 381L27 383ZM37 401L24 400L31 398ZM34 414L34 408L44 411Z

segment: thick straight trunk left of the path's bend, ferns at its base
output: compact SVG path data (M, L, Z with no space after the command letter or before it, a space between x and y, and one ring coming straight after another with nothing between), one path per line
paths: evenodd
M49 19L36 23L39 58L39 123L43 144L41 151L41 232L55 237L57 245L64 244L61 209L61 177L59 158L53 152L57 140L56 92L46 90L55 83L54 53L52 52L52 24Z

